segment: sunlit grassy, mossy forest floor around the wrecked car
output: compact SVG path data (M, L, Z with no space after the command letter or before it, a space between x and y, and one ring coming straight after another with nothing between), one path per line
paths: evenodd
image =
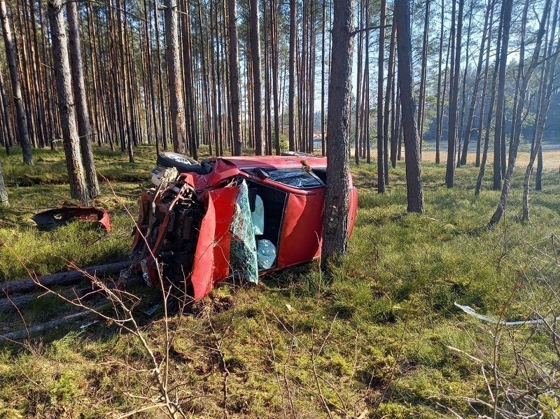
M155 150L138 148L134 164L109 150L96 148L95 157L106 180L93 204L111 213L110 234L78 222L39 232L29 217L70 201L63 152L36 150L32 167L22 166L17 152L0 154L11 205L0 210L0 281L27 276L27 269L47 274L68 262L127 257L133 225L127 211L137 214ZM426 214L416 215L405 211L403 162L382 195L374 164L352 167L358 220L332 283L311 264L266 276L257 287L224 283L188 315L170 313L168 381L183 411L208 418L447 418L494 411L513 417L507 412L530 404L545 418L560 416L554 375L560 352L546 325L504 327L454 306L505 320L559 312L558 169L545 172L541 192L531 191L532 219L521 224L519 166L505 218L492 231L485 225L499 193L489 190L491 167L478 198L478 169L458 169L452 190L444 187L444 170L423 164ZM135 313L144 339L162 360L162 305L143 313L159 294L135 292L142 297ZM23 327L22 318L29 326L73 311L43 295L21 313L0 313L0 334ZM139 339L114 322L79 326L0 346L0 418L111 418L148 405L134 417L162 417L153 364Z

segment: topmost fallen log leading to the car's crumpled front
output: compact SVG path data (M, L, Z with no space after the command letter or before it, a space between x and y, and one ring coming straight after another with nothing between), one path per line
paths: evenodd
M94 267L86 267L81 271L66 271L58 272L57 274L50 274L45 276L38 276L36 278L21 278L18 280L6 281L0 285L0 295L11 296L14 294L25 294L33 292L41 287L37 284L40 283L43 287L54 287L56 285L75 285L83 280L87 275L104 275L109 272L118 272L130 267L130 262L116 262L105 265L97 265Z

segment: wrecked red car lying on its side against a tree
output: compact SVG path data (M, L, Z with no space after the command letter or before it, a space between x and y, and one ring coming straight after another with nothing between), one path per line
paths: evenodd
M195 300L226 278L256 283L319 257L325 157L214 157L200 164L158 156L154 187L139 200L132 270L148 285L174 284ZM357 192L350 179L349 234Z

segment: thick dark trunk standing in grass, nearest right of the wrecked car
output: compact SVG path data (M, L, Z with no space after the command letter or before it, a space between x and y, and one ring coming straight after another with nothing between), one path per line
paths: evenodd
M412 42L409 0L395 0L394 21L397 24L398 85L406 150L407 211L423 213L420 139L418 132L416 132L416 115L412 97Z

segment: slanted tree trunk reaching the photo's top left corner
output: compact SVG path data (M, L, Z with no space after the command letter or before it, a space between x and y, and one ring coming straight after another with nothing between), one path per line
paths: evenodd
M6 45L6 59L8 61L8 69L10 70L10 80L12 82L12 97L15 104L15 113L18 120L18 139L23 150L24 164L33 164L33 155L31 151L31 139L29 139L29 131L27 129L27 115L22 100L22 87L20 76L18 74L18 59L15 57L14 43L10 22L8 22L8 10L6 9L6 0L0 0L0 23L2 25L2 33L4 44Z

